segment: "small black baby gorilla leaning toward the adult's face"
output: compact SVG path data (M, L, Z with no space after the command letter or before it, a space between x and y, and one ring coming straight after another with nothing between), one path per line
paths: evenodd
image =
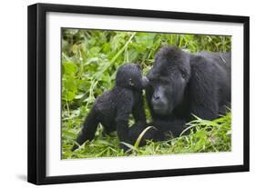
M110 91L97 97L87 114L82 130L77 136L80 145L95 136L97 125L101 123L104 133L117 131L120 142L131 143L128 136L128 117L133 114L136 124L146 124L142 89L148 84L137 64L124 64L118 68L116 85ZM125 151L128 147L120 143ZM77 149L77 144L72 151Z

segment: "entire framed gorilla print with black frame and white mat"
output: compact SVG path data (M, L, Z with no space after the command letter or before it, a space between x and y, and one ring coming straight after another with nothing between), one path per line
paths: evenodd
M249 171L249 17L28 6L28 182Z

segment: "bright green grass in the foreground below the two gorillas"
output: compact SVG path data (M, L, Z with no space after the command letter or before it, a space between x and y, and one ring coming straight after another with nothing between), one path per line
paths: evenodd
M128 144L130 153L124 153L124 151L119 148L118 137L116 134L102 137L101 127L98 127L96 137L92 142L84 143L77 151L71 152L70 149L74 142L73 140L76 139L77 133L69 134L69 132L64 131L63 136L66 138L69 137L70 140L63 147L63 158L72 159L169 153L230 152L230 123L230 113L213 121L202 120L197 117L196 120L186 124L187 127L183 133L189 132L188 135L183 135L183 133L181 133L177 138L170 138L168 141L158 143L148 141L147 145L143 147L138 147L140 141L140 137L138 137L137 143L134 145ZM146 132L147 130L144 131Z

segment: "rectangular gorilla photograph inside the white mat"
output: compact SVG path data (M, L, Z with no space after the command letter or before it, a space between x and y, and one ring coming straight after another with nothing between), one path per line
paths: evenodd
M62 160L232 151L231 35L60 32Z

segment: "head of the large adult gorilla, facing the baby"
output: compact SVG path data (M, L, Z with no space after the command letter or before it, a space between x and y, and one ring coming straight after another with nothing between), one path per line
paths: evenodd
M171 114L183 99L189 83L189 54L177 47L164 46L156 54L148 74L149 100L155 114Z

